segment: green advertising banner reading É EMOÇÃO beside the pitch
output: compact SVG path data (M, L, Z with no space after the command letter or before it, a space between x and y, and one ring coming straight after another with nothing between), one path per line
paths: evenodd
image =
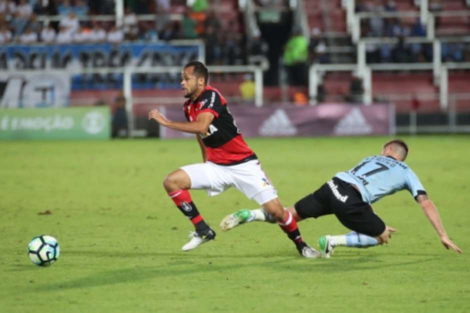
M107 139L108 107L0 109L0 139Z

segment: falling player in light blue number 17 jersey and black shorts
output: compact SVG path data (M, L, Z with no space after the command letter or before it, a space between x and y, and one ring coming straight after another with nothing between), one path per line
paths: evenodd
M318 245L323 257L329 258L337 246L367 248L388 243L390 232L395 229L386 226L370 204L400 190L408 190L421 206L442 245L446 249L462 252L447 236L439 213L418 177L404 163L407 155L408 146L404 141L389 141L383 145L380 155L367 157L349 171L336 173L315 192L287 208L297 222L334 214L342 225L352 231L345 235L320 237ZM274 222L262 208L242 209L224 217L220 227L227 231L251 221Z

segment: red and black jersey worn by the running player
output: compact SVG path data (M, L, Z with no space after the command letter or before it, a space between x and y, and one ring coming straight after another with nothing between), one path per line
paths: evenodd
M243 140L225 99L217 89L206 86L194 102L187 100L183 108L189 122L195 121L202 112L210 112L214 116L207 132L199 134L206 148L208 161L233 165L256 158Z

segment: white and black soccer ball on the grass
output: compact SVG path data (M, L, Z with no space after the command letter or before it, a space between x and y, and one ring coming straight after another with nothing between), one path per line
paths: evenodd
M57 240L48 235L34 237L27 247L27 253L32 263L38 266L48 266L57 261L60 248Z

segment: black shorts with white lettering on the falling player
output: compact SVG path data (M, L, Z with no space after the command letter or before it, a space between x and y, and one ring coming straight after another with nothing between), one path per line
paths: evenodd
M368 236L376 237L385 230L385 223L362 200L360 193L337 177L297 201L294 207L302 219L334 214L348 229Z

